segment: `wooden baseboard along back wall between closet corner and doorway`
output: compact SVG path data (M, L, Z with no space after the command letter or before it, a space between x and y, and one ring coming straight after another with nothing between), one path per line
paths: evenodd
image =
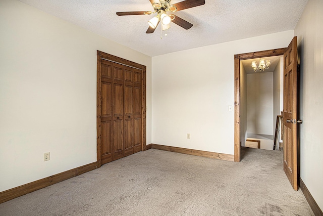
M182 153L182 154L190 154L190 155L195 155L195 156L202 156L202 157L216 158L216 159L221 159L221 160L234 161L233 154L223 154L223 153L217 153L217 152L186 149L186 148L173 147L173 146L164 146L164 145L159 145L159 144L151 144L151 148L164 150L164 151L177 152L177 153Z

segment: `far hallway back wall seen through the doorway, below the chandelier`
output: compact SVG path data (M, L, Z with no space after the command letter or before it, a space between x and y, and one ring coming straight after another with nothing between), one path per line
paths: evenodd
M273 72L247 74L248 134L273 135Z

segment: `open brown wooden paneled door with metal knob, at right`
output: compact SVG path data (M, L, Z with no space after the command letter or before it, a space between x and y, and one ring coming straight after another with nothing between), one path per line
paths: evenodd
M284 53L284 171L294 190L298 190L297 166L297 37Z

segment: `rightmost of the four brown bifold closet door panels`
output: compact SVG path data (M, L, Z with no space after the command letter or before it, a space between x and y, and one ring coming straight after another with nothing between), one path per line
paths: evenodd
M142 70L134 69L134 153L142 149Z

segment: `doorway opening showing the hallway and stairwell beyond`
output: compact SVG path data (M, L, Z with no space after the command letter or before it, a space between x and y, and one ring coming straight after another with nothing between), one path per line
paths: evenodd
M254 69L260 59L270 61ZM284 57L271 56L240 61L240 141L243 147L274 149L277 116L283 110ZM278 135L280 137L280 134ZM279 139L280 141L281 139Z

